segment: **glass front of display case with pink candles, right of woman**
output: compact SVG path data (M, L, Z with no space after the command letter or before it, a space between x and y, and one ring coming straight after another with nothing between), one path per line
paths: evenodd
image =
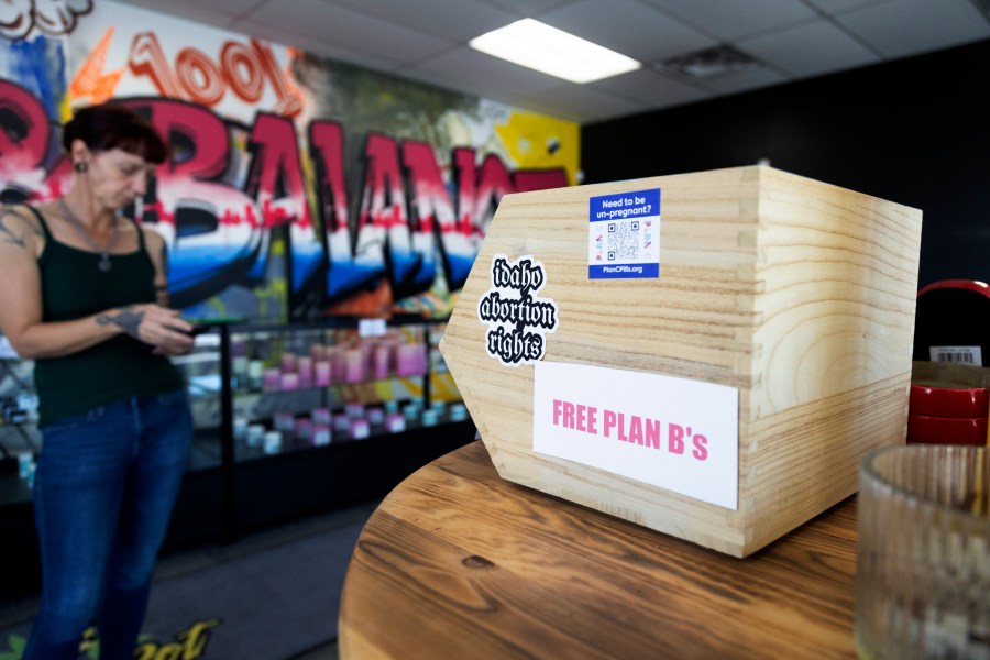
M464 421L437 342L443 323L211 323L175 359L189 385L199 460L234 461Z

